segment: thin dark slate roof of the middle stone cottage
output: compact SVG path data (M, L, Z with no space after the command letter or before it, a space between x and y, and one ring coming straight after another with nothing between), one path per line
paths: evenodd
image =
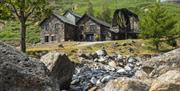
M89 14L84 14L84 15L81 17L81 19L80 19L79 21L77 21L77 24L78 24L81 20L83 20L85 17L90 18L91 20L93 20L94 22L96 22L96 23L98 23L98 24L100 24L100 25L103 25L103 26L106 26L106 27L111 27L111 25L110 25L109 23L107 23L107 22L105 22L105 21L101 21L101 20L99 20L99 19L97 19L97 18L95 18L95 17L93 17L93 16L91 16L91 15L89 15Z

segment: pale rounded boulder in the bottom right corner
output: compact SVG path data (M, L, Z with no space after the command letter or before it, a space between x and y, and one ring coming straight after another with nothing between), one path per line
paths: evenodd
M180 72L168 71L153 81L150 91L180 91Z

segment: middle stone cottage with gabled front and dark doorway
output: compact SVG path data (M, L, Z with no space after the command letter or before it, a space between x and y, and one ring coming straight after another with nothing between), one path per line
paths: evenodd
M91 15L84 14L76 24L80 41L111 40L110 24Z

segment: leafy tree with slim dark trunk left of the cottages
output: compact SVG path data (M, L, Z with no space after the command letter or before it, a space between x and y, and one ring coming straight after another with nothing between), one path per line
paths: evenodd
M42 11L47 12L47 5L46 0L3 0L0 2L0 7L6 7L20 22L20 49L22 52L26 52L26 21L34 13L41 16Z

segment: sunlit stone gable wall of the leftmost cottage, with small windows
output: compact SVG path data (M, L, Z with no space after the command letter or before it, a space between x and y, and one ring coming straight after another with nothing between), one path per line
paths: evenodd
M58 18L51 16L41 26L41 43L64 41L64 26ZM45 36L48 36L48 39Z

